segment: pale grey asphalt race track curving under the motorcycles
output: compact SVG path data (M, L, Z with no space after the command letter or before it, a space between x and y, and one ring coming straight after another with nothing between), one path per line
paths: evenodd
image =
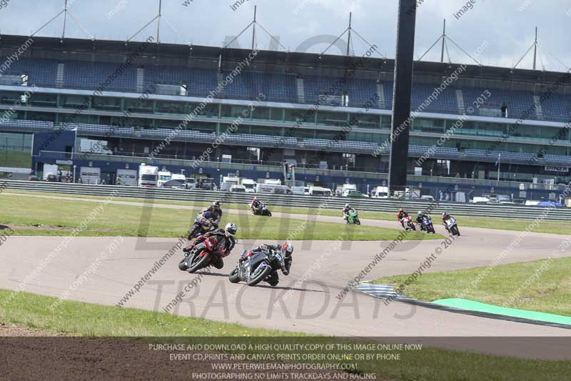
M269 218L279 217L274 214ZM293 214L288 217L307 218ZM338 217L317 218L340 222ZM398 227L396 222L379 220L365 219L363 224ZM339 226L342 233L343 224ZM443 233L441 230L442 227L440 233ZM460 231L462 237L444 249L427 272L490 265L492 259L520 234L467 227L460 227ZM558 249L565 238L556 234L527 234L500 264L568 257L570 250ZM247 287L231 284L227 274L236 265L242 250L263 243L260 241L240 240L231 256L226 258L226 266L221 270L213 269L210 274L188 274L178 270L178 260L182 257L180 250L151 274L149 271L153 266L156 268L156 261L173 248L176 239L128 237L118 242L114 237L75 237L67 241L64 249L49 256L64 239L9 237L0 252L0 288L53 297L69 292L70 300L102 305L118 305L131 291L133 295L123 302L124 307L156 311L164 310L179 292L183 292L183 302L169 312L291 332L383 337L384 341L388 340L386 337L408 337L410 342L455 350L571 359L571 351L566 346L569 340L556 344L548 338L571 337L571 330L450 313L396 301L385 305L382 300L358 292L349 292L338 299L345 284L367 267L388 242L294 241L294 261L289 277L282 275L278 287L267 284ZM113 242L117 247L109 253L107 247ZM437 247L444 248L441 239L402 242L373 266L365 279L412 273ZM46 259L44 265L41 264L43 259ZM89 272L90 268L94 271ZM34 269L40 271L34 273ZM146 275L148 279L145 279ZM135 291L139 281L143 286ZM505 340L500 345L497 341L490 345L490 341L477 337L505 337Z

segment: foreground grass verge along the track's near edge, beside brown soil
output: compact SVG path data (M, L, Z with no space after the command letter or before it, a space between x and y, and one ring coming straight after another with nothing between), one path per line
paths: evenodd
M10 293L0 290L0 300L6 300ZM54 297L21 292L7 307L0 307L0 323L82 337L211 337L212 342L216 342L217 337L246 336L241 340L266 337L264 342L280 342L288 338L294 342L310 338L320 343L347 342L335 337L312 337L303 333L84 302L61 302L52 313L49 306L56 301ZM184 342L182 338L178 340ZM388 377L392 380L564 380L571 373L571 362L566 361L520 360L429 347L402 352L400 360L353 360L350 363L357 365L357 372L375 373L378 379Z

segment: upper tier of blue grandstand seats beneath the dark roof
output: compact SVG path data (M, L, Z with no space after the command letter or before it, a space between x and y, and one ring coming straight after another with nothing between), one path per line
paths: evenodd
M5 61L6 57L0 57ZM57 83L58 64L63 64L63 82ZM51 59L20 58L13 61L11 66L2 74L10 76L28 75L29 86L35 84L43 87L61 86L70 89L96 89L101 84L103 88L111 91L141 91L137 86L137 68L129 66L122 73L111 78L118 68L118 64L89 62L89 61L61 61ZM155 84L186 85L188 96L205 97L218 85L218 73L215 69L185 68L176 66L153 66L143 67L143 88L148 89ZM228 71L221 74L221 79L228 75ZM108 81L106 81L109 79ZM106 83L107 82L107 83ZM378 107L375 95L377 83L373 79L347 79L340 86L335 87L338 78L328 76L305 76L303 78L303 90L305 103L312 104L318 101L320 94L329 91L333 86L333 93L340 96L348 94L350 107L363 107L367 102L371 107ZM434 87L428 84L413 84L411 108L416 109L430 97ZM456 91L460 89L463 94L465 108L469 107L475 99L481 96L486 89L473 87L448 86L438 98L424 109L425 112L438 112L445 114L461 114L464 110L458 104ZM542 102L539 109L533 107L535 99L531 92L527 91L502 91L490 89L491 96L480 97L483 104L474 109L475 115L485 117L500 117L502 104L507 105L508 117L518 119L527 116L526 119L545 119L557 122L567 122L571 119L571 97L561 94L551 94ZM388 107L393 103L393 81L383 82L384 104ZM267 102L297 102L296 76L294 74L271 74L255 71L242 71L233 77L232 83L228 84L218 98L228 99L256 99L259 94L264 94ZM340 103L340 102L339 102ZM529 111L528 111L529 110ZM540 112L541 111L541 112Z

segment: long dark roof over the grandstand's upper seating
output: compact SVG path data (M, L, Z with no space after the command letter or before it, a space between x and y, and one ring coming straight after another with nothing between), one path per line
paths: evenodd
M0 56L7 56L16 51L28 40L29 36L0 35ZM24 56L46 59L77 59L85 61L120 62L129 53L141 49L145 44L140 41L106 41L89 39L59 39L54 37L34 37L34 44ZM154 41L154 39L153 39ZM214 46L198 46L183 44L152 43L141 54L137 64L161 64L189 67L217 67L222 56L223 69L232 69L233 62L242 61L250 54L249 49L221 48ZM339 56L286 52L260 51L252 69L256 71L296 73L301 75L342 75L343 71L353 67L360 56ZM373 79L392 76L394 59L375 58L363 61L363 67L355 77ZM415 62L415 81L438 83L442 76L451 74L460 64L440 62ZM565 73L556 71L540 71L528 69L510 69L495 66L467 65L463 79L481 79L503 81L507 83L550 84L561 81ZM565 84L569 84L569 80ZM524 84L524 86L525 86ZM493 87L493 84L490 84ZM497 86L500 86L499 84ZM519 90L532 90L521 88ZM555 92L562 92L559 89Z

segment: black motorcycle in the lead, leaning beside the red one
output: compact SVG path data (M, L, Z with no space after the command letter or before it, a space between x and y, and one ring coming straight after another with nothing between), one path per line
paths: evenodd
M246 255L248 250L244 250L242 256ZM256 286L262 282L272 272L284 267L284 259L281 252L261 251L246 257L242 262L238 262L238 266L228 275L228 279L232 283L246 282L248 286Z

